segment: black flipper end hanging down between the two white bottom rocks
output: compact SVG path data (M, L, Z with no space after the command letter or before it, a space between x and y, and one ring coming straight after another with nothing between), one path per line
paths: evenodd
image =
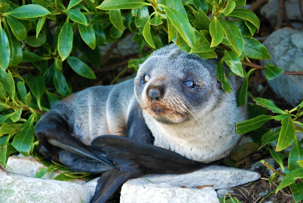
M134 178L131 174L119 169L111 169L103 173L98 180L95 195L91 203L106 202L121 186L129 179Z

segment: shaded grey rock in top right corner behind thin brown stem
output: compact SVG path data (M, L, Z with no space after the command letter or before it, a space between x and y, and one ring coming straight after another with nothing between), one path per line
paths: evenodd
M285 1L286 15L290 21L298 22L298 21L303 20L298 1L301 1L302 5L303 5L303 0ZM277 25L277 21L278 21L277 15L282 15L281 12L279 12L278 0L269 0L265 5L262 6L260 12L263 16L265 16L266 19L269 20L269 22L273 26ZM285 17L283 17L283 18L285 18ZM285 20L285 19L283 19L283 20ZM300 24L301 23L298 23L298 24L294 23L293 26L297 25L298 29L300 29L300 28L302 28L302 24L301 25Z

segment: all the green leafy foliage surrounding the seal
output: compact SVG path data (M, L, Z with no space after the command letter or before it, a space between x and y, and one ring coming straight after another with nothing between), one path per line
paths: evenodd
M238 106L245 104L248 78L255 69L246 72L242 63L249 62L249 58L270 58L267 49L253 38L260 22L253 12L240 8L245 3L245 0L0 1L0 164L5 165L8 156L15 153L34 154L35 122L58 100L73 92L70 81L75 76L96 79L102 57L99 46L130 33L135 33L133 41L138 42L141 57L129 61L128 66L134 69L148 56L146 46L154 50L175 42L182 50L206 59L220 53L223 58L216 65L216 76L227 92L231 88L223 62L230 67L230 74L243 77L237 102ZM282 73L284 70L272 64L265 66L269 80ZM283 111L268 100L255 101L278 115L259 114L239 123L237 132L258 129L269 120L281 121L282 128L268 131L262 137L262 145L278 140L277 153L281 153L294 142L288 167L291 172L301 169L302 150L294 132L302 131L303 124L297 118L302 114L303 104ZM298 113L291 114L295 110ZM298 177L298 173L293 177ZM294 195L300 193L293 184L291 189Z

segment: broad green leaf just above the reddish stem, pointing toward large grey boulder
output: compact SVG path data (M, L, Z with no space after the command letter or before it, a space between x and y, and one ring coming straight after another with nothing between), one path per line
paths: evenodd
M263 46L258 40L250 37L244 39L244 52L245 56L248 56L251 59L270 59L270 55L265 46Z

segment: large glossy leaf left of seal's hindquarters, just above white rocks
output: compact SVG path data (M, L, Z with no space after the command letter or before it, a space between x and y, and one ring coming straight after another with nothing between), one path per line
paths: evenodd
M22 125L21 130L15 135L12 146L24 156L28 157L34 142L34 117Z

